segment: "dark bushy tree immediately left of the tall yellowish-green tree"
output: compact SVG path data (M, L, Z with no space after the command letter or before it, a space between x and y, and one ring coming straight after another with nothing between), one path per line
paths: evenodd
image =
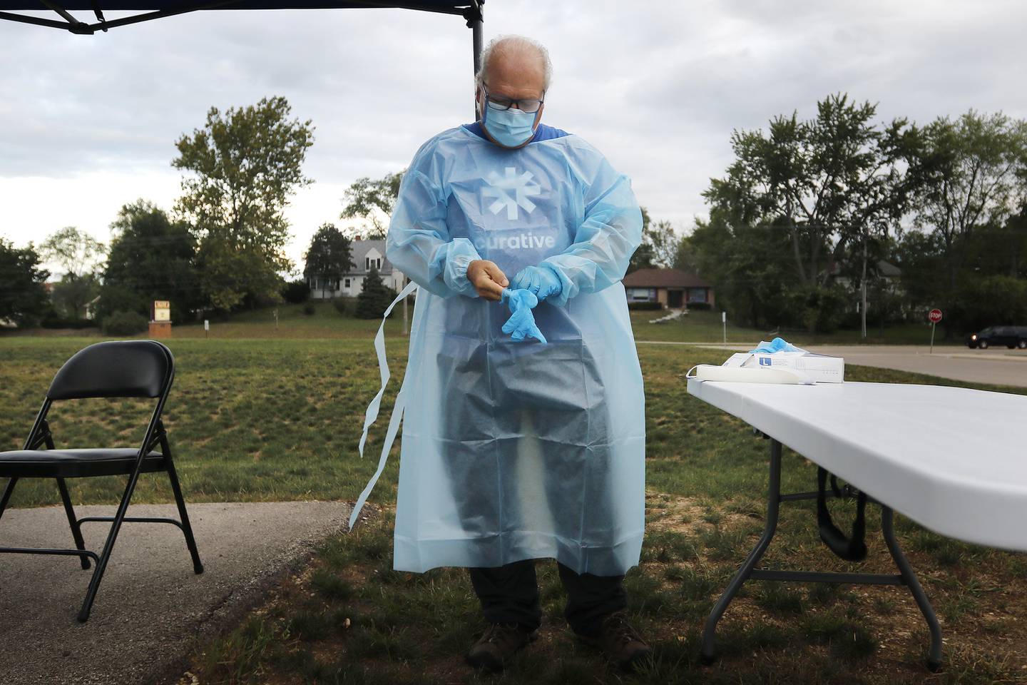
M138 199L121 207L111 232L98 315L147 314L153 300L167 300L174 319L191 318L202 300L194 264L196 238L188 224L173 222L153 202Z

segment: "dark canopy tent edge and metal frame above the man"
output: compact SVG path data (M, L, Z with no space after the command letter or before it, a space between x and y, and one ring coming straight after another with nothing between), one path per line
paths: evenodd
M165 3L147 0L138 2L124 2L118 0L0 0L0 20L8 22L18 22L34 26L62 29L76 35L90 36L97 31L107 31L121 26L149 22L152 20L175 16L199 10L211 9L329 9L329 8L397 8L413 9L417 11L438 12L443 14L456 14L462 16L467 23L467 28L471 30L473 43L474 73L480 67L480 55L482 53L482 23L484 21L483 5L485 0L466 0L465 2L441 2L428 0L408 0L407 2L376 2L374 0L307 0L301 2L275 2L249 0L207 0L206 2L184 2L181 5L176 3ZM107 21L104 18L104 7L113 9L141 9L146 10L160 5L172 5L152 11L144 11L141 14L123 16L116 20ZM144 5L144 6L140 6ZM18 14L10 9L17 10L38 10L50 9L56 12L64 21L34 16L30 14ZM84 9L92 11L97 16L97 22L88 24L76 18L70 10Z

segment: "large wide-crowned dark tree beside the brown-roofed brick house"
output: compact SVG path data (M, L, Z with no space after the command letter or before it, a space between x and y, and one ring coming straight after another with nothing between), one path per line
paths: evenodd
M837 299L824 267L859 245L865 314L869 243L886 238L906 212L913 177L904 174L904 162L915 136L903 119L878 129L871 122L876 107L851 103L845 94L829 96L816 110L808 121L795 112L777 116L766 135L734 131L735 161L703 196L739 225L788 237L804 319L830 326L826 314L809 312Z

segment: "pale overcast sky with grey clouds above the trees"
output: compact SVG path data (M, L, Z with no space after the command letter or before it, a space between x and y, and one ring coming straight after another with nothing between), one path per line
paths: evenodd
M101 1L101 5L103 2ZM488 0L485 38L521 33L554 63L544 121L633 179L688 231L730 162L735 128L815 112L843 91L878 117L974 108L1027 118L1018 0ZM120 14L110 12L108 18ZM83 20L91 14L82 13ZM315 183L288 211L288 253L338 220L343 190L405 167L473 112L470 31L410 10L205 11L94 36L0 22L0 235L78 226L107 242L118 208L170 210L174 141L225 110L283 96L311 119Z

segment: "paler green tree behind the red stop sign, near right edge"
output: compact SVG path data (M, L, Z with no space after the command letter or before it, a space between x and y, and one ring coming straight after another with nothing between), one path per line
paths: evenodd
M1027 124L971 110L955 121L936 119L924 127L923 138L916 224L941 236L947 275L943 300L949 307L976 231L1001 225L1013 211L1017 173L1027 156ZM947 336L951 322L946 319Z

